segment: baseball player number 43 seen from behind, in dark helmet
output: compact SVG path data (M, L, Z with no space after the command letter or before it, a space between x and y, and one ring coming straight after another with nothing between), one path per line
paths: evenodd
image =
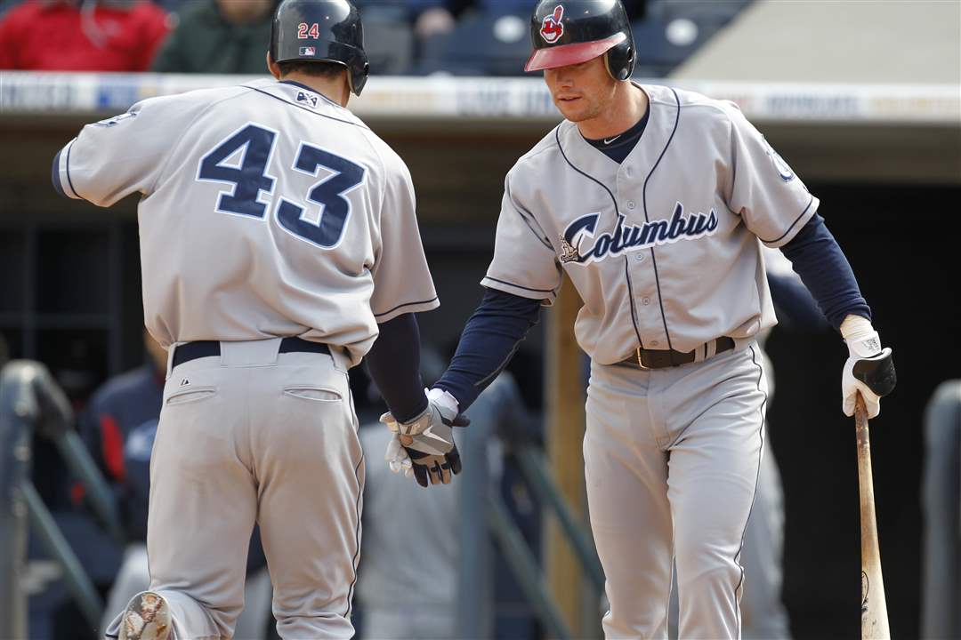
M144 100L54 161L70 198L139 194L144 318L169 355L150 590L111 638L230 638L255 522L281 636L351 637L364 462L347 369L366 354L405 432L441 421L417 373L412 314L438 300L410 176L346 108L368 72L357 9L283 0L265 55L279 82Z

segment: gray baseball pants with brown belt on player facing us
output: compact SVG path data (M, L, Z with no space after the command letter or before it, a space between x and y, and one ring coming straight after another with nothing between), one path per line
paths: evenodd
M591 367L584 470L606 638L667 637L675 555L678 636L740 637L766 389L752 343L680 367Z

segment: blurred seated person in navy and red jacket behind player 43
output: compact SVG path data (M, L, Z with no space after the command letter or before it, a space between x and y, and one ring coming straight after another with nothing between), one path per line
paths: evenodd
M167 352L146 331L143 338L148 362L104 383L80 417L81 436L113 489L128 542L104 610L103 629L150 586L146 547L150 454L163 404ZM271 599L257 533L247 562L246 604L236 626L236 637L250 640L264 636Z

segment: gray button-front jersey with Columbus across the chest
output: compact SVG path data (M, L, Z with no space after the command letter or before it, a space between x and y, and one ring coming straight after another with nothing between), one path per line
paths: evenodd
M733 103L642 88L650 119L623 163L567 121L518 160L481 282L550 304L563 269L600 364L775 324L758 239L784 245L818 208Z

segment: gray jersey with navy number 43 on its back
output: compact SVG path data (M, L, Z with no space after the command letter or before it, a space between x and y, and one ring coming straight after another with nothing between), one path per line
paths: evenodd
M140 192L144 318L164 346L301 336L357 364L377 322L438 306L404 161L296 83L151 98L87 125L54 182Z

